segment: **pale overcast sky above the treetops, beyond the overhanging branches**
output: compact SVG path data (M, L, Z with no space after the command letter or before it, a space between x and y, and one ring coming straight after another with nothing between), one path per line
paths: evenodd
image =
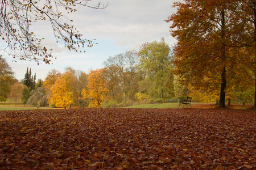
M98 0L93 0L99 2ZM65 49L61 44L53 41L51 26L47 23L33 25L36 35L45 37L43 43L53 49L53 55L57 59L52 65L36 62L16 61L5 57L15 72L16 79L24 78L27 67L32 74L36 73L37 79L43 79L52 69L64 73L66 67L89 70L104 67L103 62L109 56L125 53L126 50L137 50L144 42L165 41L172 45L176 40L170 35L170 23L164 22L168 16L175 12L172 3L175 0L101 0L101 4L107 5L105 9L92 9L79 7L77 12L68 14L72 24L84 35L85 39L93 40L98 45L85 48L86 53L76 53ZM90 2L91 3L91 2ZM93 2L92 2L93 3ZM93 5L93 4L92 4ZM44 44L44 45L45 45Z

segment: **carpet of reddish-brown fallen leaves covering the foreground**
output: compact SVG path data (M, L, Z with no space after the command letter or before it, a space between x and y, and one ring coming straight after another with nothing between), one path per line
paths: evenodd
M256 169L256 112L0 112L0 169Z

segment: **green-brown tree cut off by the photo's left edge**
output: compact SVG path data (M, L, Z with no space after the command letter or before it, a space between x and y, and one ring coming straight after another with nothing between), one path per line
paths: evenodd
M14 83L14 73L6 62L5 58L0 56L0 101L6 101Z

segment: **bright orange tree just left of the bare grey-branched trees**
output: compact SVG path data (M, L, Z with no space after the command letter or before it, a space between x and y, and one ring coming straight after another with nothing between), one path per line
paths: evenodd
M90 100L90 108L100 108L109 96L107 71L106 68L91 70L88 74L88 85L82 90L82 94L84 99Z

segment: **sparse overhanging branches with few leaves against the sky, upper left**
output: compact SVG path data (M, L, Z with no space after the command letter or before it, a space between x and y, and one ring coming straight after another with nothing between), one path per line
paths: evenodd
M1 1L0 37L3 41L5 52L12 54L14 58L35 60L39 63L42 59L50 63L53 57L42 45L44 38L38 38L30 27L35 22L49 22L52 26L56 42L61 42L69 50L80 50L84 46L92 46L92 41L82 38L81 33L63 15L65 12L75 12L76 6L92 8L105 8L101 3L96 6L88 6L89 0L54 0L54 1ZM81 50L80 50L81 51Z

